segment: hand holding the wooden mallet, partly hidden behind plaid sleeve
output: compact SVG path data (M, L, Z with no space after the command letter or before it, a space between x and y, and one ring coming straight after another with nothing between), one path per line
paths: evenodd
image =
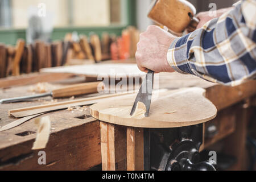
M196 15L196 18L200 20L199 24L197 25L196 29L201 28L204 26L205 23L209 22L214 18L220 17L222 14L226 13L229 10L232 10L234 7L229 7L225 9L220 9L216 11L216 16L210 16L209 11L204 11Z

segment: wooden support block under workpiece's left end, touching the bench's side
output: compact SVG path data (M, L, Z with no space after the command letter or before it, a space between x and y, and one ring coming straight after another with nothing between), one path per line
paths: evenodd
M126 127L101 122L100 128L102 170L126 170Z

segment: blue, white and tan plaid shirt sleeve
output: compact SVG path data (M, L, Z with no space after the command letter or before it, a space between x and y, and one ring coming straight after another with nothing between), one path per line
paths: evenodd
M168 63L179 73L236 86L256 76L256 1L244 0L220 18L175 39Z

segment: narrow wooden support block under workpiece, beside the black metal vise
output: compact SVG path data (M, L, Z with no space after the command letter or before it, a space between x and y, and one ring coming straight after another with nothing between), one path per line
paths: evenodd
M143 129L127 127L127 171L144 170Z

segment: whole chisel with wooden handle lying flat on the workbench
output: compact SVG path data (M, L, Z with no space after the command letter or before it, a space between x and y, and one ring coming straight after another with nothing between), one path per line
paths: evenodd
M65 86L60 89L52 90L51 92L42 93L42 94L35 94L32 96L22 96L22 97L14 97L14 98L5 98L0 100L0 104L7 104L12 102L21 102L31 100L33 98L41 98L41 97L48 97L51 96L53 98L61 98L61 97L72 97L72 96L79 96L82 94L90 94L90 93L97 93L98 88L104 89L103 82L88 82L84 84L76 84L71 86Z

